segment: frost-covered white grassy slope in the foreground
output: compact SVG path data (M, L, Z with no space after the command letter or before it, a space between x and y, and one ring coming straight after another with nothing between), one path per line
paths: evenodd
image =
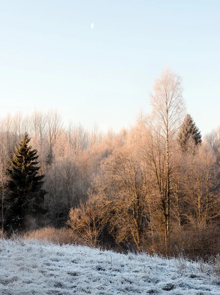
M0 295L220 295L210 272L184 260L0 240Z

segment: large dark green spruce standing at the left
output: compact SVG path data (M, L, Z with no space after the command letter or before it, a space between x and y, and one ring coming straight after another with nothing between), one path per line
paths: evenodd
M10 160L8 189L10 207L7 228L24 228L28 218L36 217L41 212L46 192L42 189L44 175L39 175L37 150L28 146L30 138L25 133L18 144L13 159Z

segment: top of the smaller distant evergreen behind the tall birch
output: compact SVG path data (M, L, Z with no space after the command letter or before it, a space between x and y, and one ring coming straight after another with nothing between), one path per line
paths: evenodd
M183 152L187 151L190 141L192 141L196 146L202 143L201 132L189 114L186 115L180 127L178 141Z

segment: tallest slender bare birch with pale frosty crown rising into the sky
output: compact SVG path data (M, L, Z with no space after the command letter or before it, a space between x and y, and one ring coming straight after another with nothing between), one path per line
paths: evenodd
M162 143L166 150L166 179L164 185L158 185L158 188L162 201L167 251L170 236L171 173L173 170L171 157L174 154L174 151L171 152L171 147L185 107L180 76L171 72L169 68L163 71L161 77L155 81L151 104L153 107L151 127L159 136L160 145Z

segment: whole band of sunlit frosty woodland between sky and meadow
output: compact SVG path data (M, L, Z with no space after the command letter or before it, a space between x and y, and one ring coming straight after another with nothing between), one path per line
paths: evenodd
M55 111L2 119L2 227L13 227L7 216L19 161L11 159L14 153L19 159L14 147L26 136L40 178L24 228L68 224L92 246L190 255L220 250L220 133L202 141L182 92L181 78L166 69L151 93L152 112L118 134L97 124L65 128Z

